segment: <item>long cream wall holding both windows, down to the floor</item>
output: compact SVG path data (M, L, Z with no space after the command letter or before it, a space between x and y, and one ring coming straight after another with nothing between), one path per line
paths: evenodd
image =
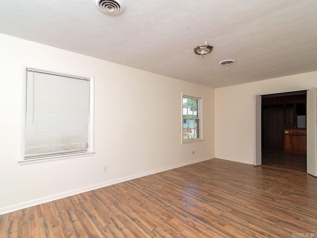
M214 157L212 88L2 34L0 52L0 213ZM94 156L18 164L21 62L95 76ZM182 92L203 96L203 142L180 143Z

